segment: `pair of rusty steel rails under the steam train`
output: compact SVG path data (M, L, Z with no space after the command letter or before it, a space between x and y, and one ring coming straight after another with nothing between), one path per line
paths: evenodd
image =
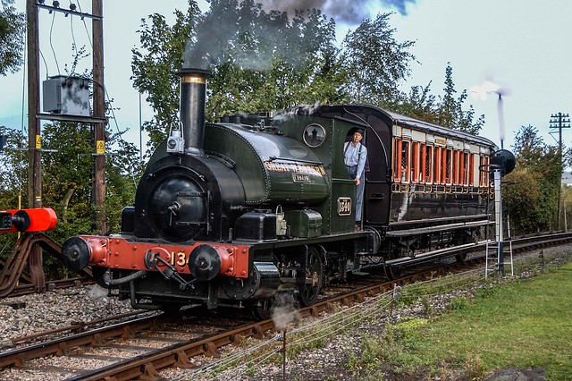
M512 240L513 251L521 252L524 250L536 250L549 246L556 246L572 241L572 233L557 233L550 236L533 236ZM341 294L325 298L316 302L310 307L299 309L301 318L308 316L317 316L320 312L332 310L332 306L336 303L349 305L352 302L364 301L366 297L374 296L382 292L388 292L397 285L414 283L418 280L424 280L428 277L446 274L450 267L467 267L472 264L481 264L484 255L475 256L464 262L455 262L439 268L427 269L424 273L416 273L405 275L399 279L392 281L384 281L377 284L361 286L356 290L342 292ZM360 280L363 278L360 278ZM100 343L105 345L105 340L122 335L133 334L135 331L148 329L156 326L154 322L158 317L148 317L136 320L139 326L133 326L131 323L123 323L111 328L101 328L84 334L76 334L71 336L71 340L61 339L50 343L41 343L32 346L29 349L15 350L0 354L0 367L10 365L21 365L25 360L30 360L45 356L46 354L62 355L69 352L71 348L80 345L88 345L91 343ZM186 342L175 343L163 349L147 352L146 354L137 356L129 360L122 360L117 363L89 370L72 380L99 380L114 379L128 380L138 377L154 378L157 376L157 370L167 367L190 368L193 366L190 359L198 355L218 357L220 355L219 348L231 343L238 343L240 337L254 336L262 338L263 335L271 330L275 330L272 319L246 324L243 326L232 328L223 333L209 334L207 336L192 339Z

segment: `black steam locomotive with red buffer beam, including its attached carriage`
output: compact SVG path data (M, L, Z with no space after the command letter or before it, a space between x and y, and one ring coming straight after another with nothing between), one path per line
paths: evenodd
M156 150L122 232L63 245L134 308L301 304L348 273L387 274L483 237L491 140L373 106L298 106L205 123L206 72L183 70L181 128ZM362 229L343 146L365 130ZM458 258L463 259L463 258Z

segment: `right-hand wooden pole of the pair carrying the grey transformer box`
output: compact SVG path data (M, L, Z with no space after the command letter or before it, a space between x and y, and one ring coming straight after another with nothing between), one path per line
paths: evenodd
M93 33L93 116L105 117L105 87L104 87L104 28L103 0L92 0L92 13L100 16L92 23ZM94 203L96 205L96 223L99 233L107 233L105 218L105 123L95 123L94 131L95 175Z

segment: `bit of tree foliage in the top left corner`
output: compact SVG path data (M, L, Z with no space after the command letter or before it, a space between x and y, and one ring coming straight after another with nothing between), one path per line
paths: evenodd
M26 17L16 12L14 0L0 0L0 74L18 72L23 63Z

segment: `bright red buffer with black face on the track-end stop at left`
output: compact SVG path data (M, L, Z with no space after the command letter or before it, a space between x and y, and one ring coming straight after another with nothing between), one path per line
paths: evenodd
M0 233L46 232L55 224L57 216L49 207L0 210Z

